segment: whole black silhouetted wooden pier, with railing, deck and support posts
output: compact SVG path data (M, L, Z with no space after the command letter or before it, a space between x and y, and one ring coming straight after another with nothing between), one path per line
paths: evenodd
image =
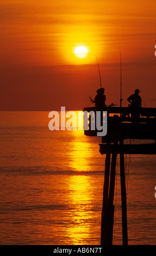
M95 112L95 107L83 111ZM156 108L107 107L107 135L102 137L99 152L105 154L103 205L101 218L101 245L113 245L114 191L117 154L120 155L120 181L122 205L122 244L128 245L127 196L124 154L156 154ZM134 114L136 117L134 117ZM86 136L97 136L97 130L84 130ZM140 139L144 144L124 144L126 139ZM148 143L152 140L153 143Z

